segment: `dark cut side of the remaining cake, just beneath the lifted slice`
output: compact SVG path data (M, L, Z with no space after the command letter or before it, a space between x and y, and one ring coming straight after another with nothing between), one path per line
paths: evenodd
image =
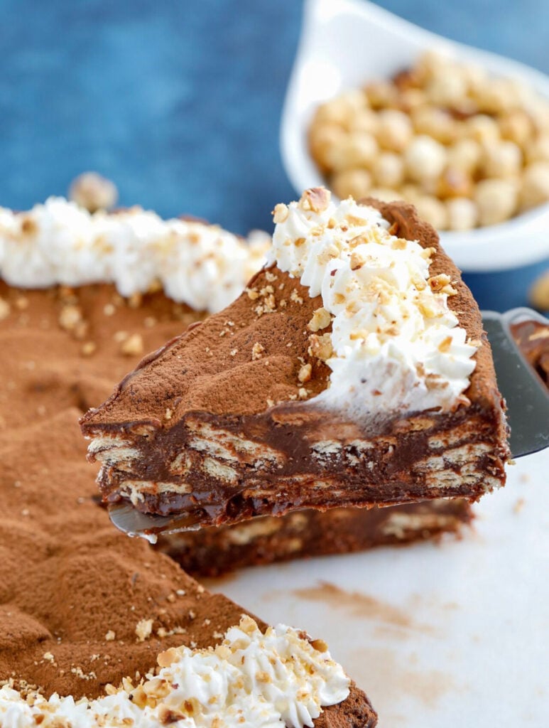
M161 534L158 550L194 577L311 558L404 546L443 537L460 538L473 521L463 499L436 499L386 508L308 508L282 516L263 515L225 526Z

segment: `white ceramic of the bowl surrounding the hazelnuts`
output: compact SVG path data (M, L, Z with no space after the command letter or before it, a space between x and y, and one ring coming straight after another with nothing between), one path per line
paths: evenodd
M280 138L286 174L298 194L323 183L307 145L308 126L318 104L369 80L389 78L430 48L484 66L494 75L520 79L549 97L549 78L540 71L441 38L365 0L307 0ZM444 232L441 242L465 271L505 270L548 256L548 224L549 205L540 205L500 225Z

